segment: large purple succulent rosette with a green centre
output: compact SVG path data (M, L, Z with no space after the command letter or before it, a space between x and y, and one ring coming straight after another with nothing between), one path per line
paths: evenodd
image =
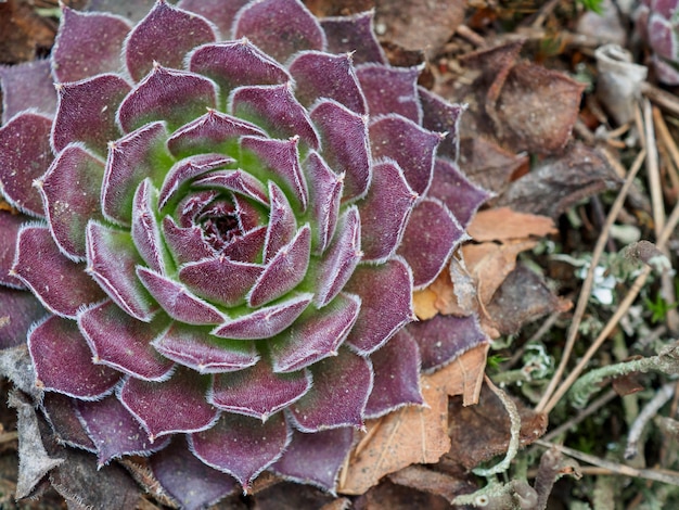
M64 443L183 502L332 490L356 428L485 341L407 326L487 197L419 71L297 0L64 8L50 61L0 69L0 346Z

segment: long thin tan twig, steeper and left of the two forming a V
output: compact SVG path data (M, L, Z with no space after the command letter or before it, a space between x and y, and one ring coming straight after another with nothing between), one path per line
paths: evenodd
M637 173L639 171L639 168L641 168L641 164L643 163L644 157L645 157L645 151L641 150L639 154L637 155L637 158L632 163L631 168L629 169L627 178L625 179L625 183L623 184L620 192L618 193L617 197L615 199L615 202L613 203L613 206L611 207L611 212L608 213L606 222L604 224L602 228L601 235L599 235L599 239L597 240L597 245L594 246L594 251L592 252L592 259L589 266L589 270L587 271L587 278L585 279L585 282L582 283L582 290L580 291L578 303L575 307L575 311L573 313L573 321L571 322L571 328L568 329L568 336L566 339L566 345L564 346L561 361L559 364L556 371L554 372L554 377L550 381L549 385L547 386L547 390L545 391L545 394L542 395L542 398L540 399L540 401L538 403L536 407L537 412L549 412L549 410L547 410L548 401L550 400L550 398L552 397L552 394L556 390L556 386L561 382L561 378L563 377L566 370L566 366L568 365L571 353L573 352L573 347L575 346L575 341L578 336L578 329L580 327L580 322L582 321L585 309L587 308L587 303L589 301L589 296L592 292L592 286L594 283L594 270L597 269L597 266L599 265L601 255L603 254L606 242L608 241L611 227L617 219L618 212L623 208L623 204L625 203L627 193L629 192L629 189L631 188L635 181L635 177Z

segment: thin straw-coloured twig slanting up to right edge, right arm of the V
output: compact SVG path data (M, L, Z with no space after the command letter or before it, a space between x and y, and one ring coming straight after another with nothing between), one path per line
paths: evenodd
M675 208L672 209L671 215L667 219L667 224L665 225L665 228L663 229L661 237L656 241L656 246L658 248L662 250L663 247L665 247L665 244L667 244L667 241L674 233L677 222L679 222L679 202L677 203L677 205L675 205ZM599 242L601 242L601 238L599 239L598 243ZM606 341L608 335L613 332L613 330L617 326L618 321L625 316L625 314L627 314L627 310L629 309L629 307L635 303L635 301L637 299L637 296L639 295L639 292L643 288L643 284L646 282L649 275L651 275L651 270L652 269L649 266L643 267L643 269L641 270L641 273L637 277L637 279L630 286L629 292L625 296L625 299L623 299L623 302L620 302L620 304L618 305L618 308L616 309L613 317L608 319L608 322L606 323L606 326L603 328L601 333L599 333L599 336L597 336L597 340L594 340L594 342L589 346L589 348L587 349L587 353L585 353L580 361L573 369L571 374L568 374L568 377L565 379L563 384L561 384L559 390L554 392L554 394L549 399L549 401L543 407L539 407L540 412L549 413L554 408L554 406L559 404L559 400L561 399L561 397L563 397L564 394L571 388L571 386L573 386L575 381L580 377L580 373L582 372L582 370L585 370L585 367L587 366L589 360L594 356L597 350L599 350L599 347L601 347L601 345ZM579 302L578 302L578 305L579 305Z

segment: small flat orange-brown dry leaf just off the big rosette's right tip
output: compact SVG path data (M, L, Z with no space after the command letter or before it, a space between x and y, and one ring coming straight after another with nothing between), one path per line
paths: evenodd
M508 241L556 233L554 221L547 216L518 213L509 207L479 211L467 227L474 241Z

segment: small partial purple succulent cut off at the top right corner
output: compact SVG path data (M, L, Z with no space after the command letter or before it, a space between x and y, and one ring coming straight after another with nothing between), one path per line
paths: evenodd
M679 3L676 0L641 0L636 25L637 33L653 50L657 79L679 85Z

